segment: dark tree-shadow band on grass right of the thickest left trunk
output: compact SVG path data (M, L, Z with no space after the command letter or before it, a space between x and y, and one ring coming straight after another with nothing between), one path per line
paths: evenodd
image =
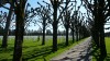
M25 53L23 53L23 61L28 61L29 59L37 58L40 56L47 56L52 52L52 47L44 47L41 49L33 49Z

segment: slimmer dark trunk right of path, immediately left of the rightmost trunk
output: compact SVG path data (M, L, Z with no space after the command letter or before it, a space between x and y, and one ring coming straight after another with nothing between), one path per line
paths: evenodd
M94 25L94 30L92 30L92 35L94 35L94 40L95 40L95 42L96 42L96 45L97 45L97 47L99 48L99 46L100 46L100 40L99 40L99 22L98 22L98 19L99 19L99 16L98 16L98 7L97 7L97 1L98 0L95 0L95 10L94 10L94 15L95 15L95 25Z

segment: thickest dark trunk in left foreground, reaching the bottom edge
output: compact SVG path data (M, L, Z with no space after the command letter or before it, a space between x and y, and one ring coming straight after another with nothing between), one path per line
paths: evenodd
M16 25L15 25L15 42L14 42L13 61L22 61L25 3L26 1L20 0L20 3L16 4L15 10L14 10L16 14Z

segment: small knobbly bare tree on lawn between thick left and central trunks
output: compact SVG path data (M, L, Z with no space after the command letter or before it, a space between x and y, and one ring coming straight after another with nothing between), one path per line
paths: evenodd
M50 16L51 12L50 12L50 9L47 9L47 5L46 7L43 7L42 4L40 4L40 5L41 5L40 8L36 8L37 9L36 10L37 11L37 15L40 17L40 21L37 21L37 22L42 23L42 26L43 26L42 45L45 45L45 29L47 28L47 20L48 20L48 16Z

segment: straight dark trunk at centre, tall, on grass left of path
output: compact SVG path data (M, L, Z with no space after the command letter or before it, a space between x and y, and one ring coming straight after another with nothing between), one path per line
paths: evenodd
M57 1L54 1L53 52L57 51Z

